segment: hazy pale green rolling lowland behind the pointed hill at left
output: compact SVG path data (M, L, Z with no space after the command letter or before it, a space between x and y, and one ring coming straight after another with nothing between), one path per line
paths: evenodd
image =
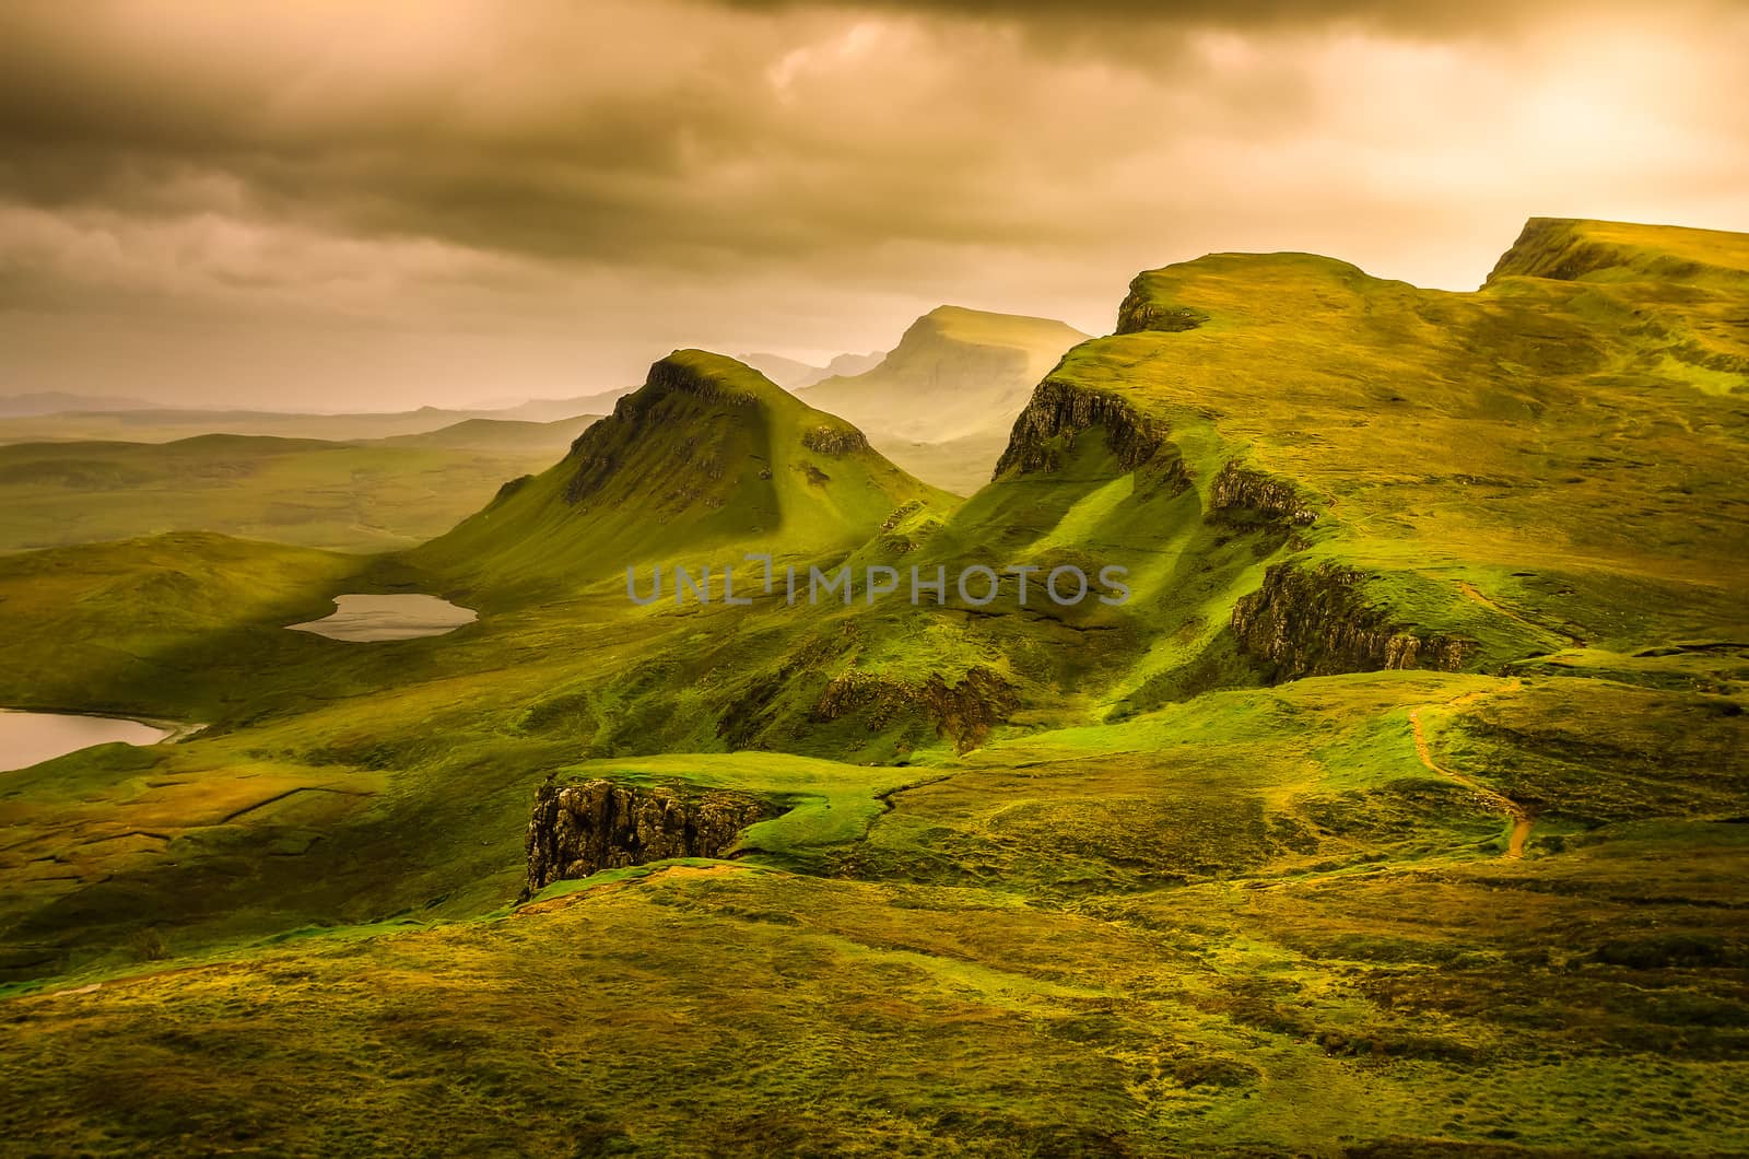
M0 551L170 530L404 548L549 464L593 420L470 418L362 443L203 434L0 446Z

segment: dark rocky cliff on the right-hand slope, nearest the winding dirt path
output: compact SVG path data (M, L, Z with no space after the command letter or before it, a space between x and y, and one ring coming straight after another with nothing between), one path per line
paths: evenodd
M1265 660L1275 683L1301 676L1434 669L1455 672L1476 643L1394 627L1371 608L1364 576L1348 567L1277 564L1233 608L1242 651Z

